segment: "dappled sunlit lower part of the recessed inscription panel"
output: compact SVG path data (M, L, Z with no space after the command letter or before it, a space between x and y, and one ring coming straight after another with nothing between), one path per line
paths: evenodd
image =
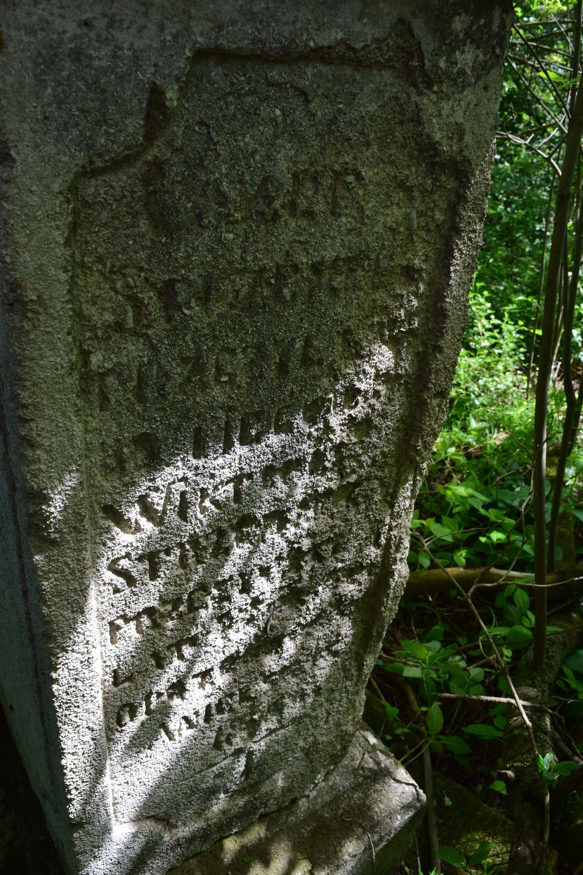
M375 352L358 381L358 400L350 403L355 423L370 415L364 399L367 388L372 395L375 367L378 374L387 365L386 351ZM327 411L325 427L332 433L341 429L347 411L335 395L321 407ZM100 589L101 625L105 628L105 620L108 627L101 639L118 819L161 816L152 794L160 774L169 800L170 784L180 786L182 774L200 774L203 785L222 784L218 797L243 778L249 781L262 739L302 722L329 686L334 651L350 653L351 623L336 603L349 593L351 600L358 598L359 576L349 583L343 573L346 556L357 553L357 539L352 536L350 547L338 551L340 562L331 562L329 545L339 543L337 517L344 500L333 500L330 514L315 511L313 497L333 498L346 485L348 498L357 477L350 479L349 473L343 482L331 467L309 471L309 458L322 446L317 439L322 428L316 423L310 428L296 416L288 433L268 433L260 444L236 444L204 463L181 458L139 481L118 507L106 508L104 547L94 563L108 584ZM301 450L295 450L300 442ZM293 465L287 465L290 456ZM233 484L241 473L235 496ZM359 472L359 479L365 476ZM309 506L298 509L306 497L312 499ZM379 545L376 551L370 545L363 549L378 556ZM330 558L321 577L325 557ZM363 571L366 558L361 553ZM290 598L290 563L299 617L297 596ZM337 590L330 586L334 566ZM299 685L293 679L298 665ZM346 683L353 683L350 675ZM342 698L342 683L333 695ZM178 751L181 767L175 767ZM291 751L287 759L296 756ZM218 768L221 781L211 777ZM211 806L214 800L204 792ZM193 787L190 793L192 802L184 804L196 810L198 792ZM170 822L174 802L171 806Z

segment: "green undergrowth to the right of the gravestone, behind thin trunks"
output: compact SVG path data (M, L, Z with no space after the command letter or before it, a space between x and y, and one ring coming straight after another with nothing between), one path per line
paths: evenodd
M538 733L535 739L530 729L536 749L529 766L535 775L533 792L543 800L531 869L517 868L516 860L512 863L510 844L514 848L516 841L504 833L509 823L516 832L517 811L524 803L523 797L509 801L517 795L517 776L509 769L507 749L509 722L517 716L512 679L517 679L518 686L521 676L529 675L530 662L525 661L531 658L537 616L540 626L532 588L536 566L533 481L541 464L541 452L536 449L535 389L541 339L549 330L543 302L558 210L557 171L566 150L567 104L573 111L574 87L579 81L581 3L567 8L557 2L531 2L517 6L515 16L520 30L510 41L489 212L469 299L468 332L448 417L413 514L408 562L410 584L415 581L416 588L407 586L367 691L366 718L395 756L426 785L427 796L434 802L436 825L429 824L428 837L425 830L418 831L416 847L402 867L405 875L421 871L432 875L432 866L434 872L443 866L446 872L490 875L535 870L573 875L575 871L573 856L558 857L549 848L556 829L552 816L561 798L555 789L566 786L561 781L573 781L569 775L583 768L583 639L573 638L578 643L571 655L560 655L560 648L547 646L547 655L550 651L559 663L544 703L537 705L549 714L552 709L547 718L552 731ZM553 493L559 490L560 497L559 534L547 566L549 573L556 574L547 579L567 578L573 585L560 604L552 603L548 622L545 613L547 642L565 639L566 629L570 634L575 630L576 636L583 626L583 590L575 585L574 571L583 559L580 435L568 447L564 475L560 463L569 382L581 398L583 381L581 250L577 248L577 240L583 239L582 207L580 157L566 223L558 307L550 329L554 334L545 437L547 525ZM569 289L573 286L577 297L572 301L570 324ZM478 571L468 596L468 582L464 593L460 581L462 573L471 569ZM421 594L424 587L425 594ZM524 717L528 729L528 717ZM461 807L472 808L472 797L464 797L462 803L452 801L449 785L444 788L441 783L444 774L461 784L462 792L469 791L478 806L472 809L473 823L465 832L456 833L454 824L462 817ZM487 821L486 809L479 808L475 797L500 817L496 829L491 824L480 828L480 820ZM580 857L583 860L583 853ZM545 868L547 863L554 868ZM583 872L583 868L576 871Z

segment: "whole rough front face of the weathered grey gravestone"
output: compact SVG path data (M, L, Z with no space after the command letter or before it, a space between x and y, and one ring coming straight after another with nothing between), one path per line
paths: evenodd
M510 2L3 13L3 702L68 871L163 872L357 729Z

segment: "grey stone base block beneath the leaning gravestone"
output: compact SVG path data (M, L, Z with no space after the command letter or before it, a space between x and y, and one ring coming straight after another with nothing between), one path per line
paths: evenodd
M425 796L365 726L307 796L186 860L168 875L392 875Z

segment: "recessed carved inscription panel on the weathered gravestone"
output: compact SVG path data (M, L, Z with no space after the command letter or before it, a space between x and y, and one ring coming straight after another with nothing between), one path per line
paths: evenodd
M406 443L454 186L400 160L417 109L387 99L389 73L302 71L199 58L163 130L80 179L73 310L121 819L173 810L170 751L172 781L227 794L355 719L350 654L409 474L392 435ZM124 790L129 761L157 788L149 808Z

